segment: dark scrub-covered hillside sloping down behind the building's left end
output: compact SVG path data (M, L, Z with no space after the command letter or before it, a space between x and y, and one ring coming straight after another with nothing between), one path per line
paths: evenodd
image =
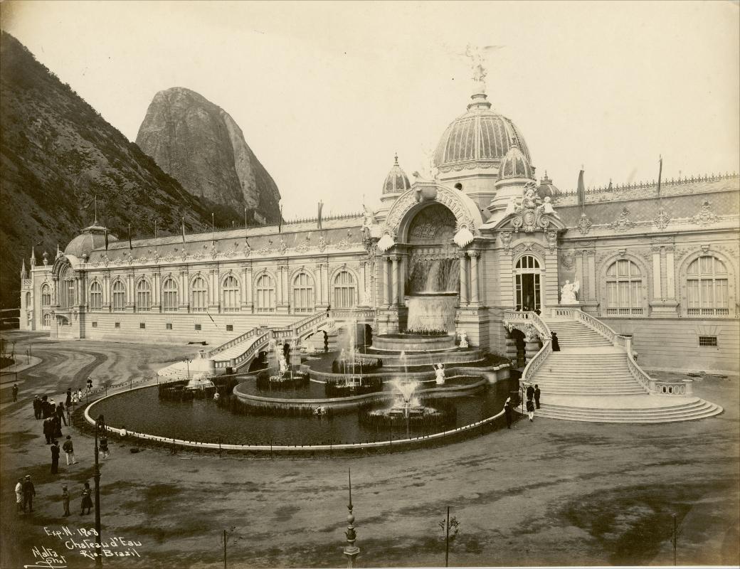
M136 144L108 124L72 88L36 61L16 38L0 41L0 304L19 306L21 258L46 250L53 259L92 223L113 235L161 235L217 223L240 223L241 212L195 198ZM243 223L243 222L241 222Z

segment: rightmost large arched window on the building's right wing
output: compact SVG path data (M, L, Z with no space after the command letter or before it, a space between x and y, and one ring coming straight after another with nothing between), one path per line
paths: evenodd
M689 316L726 316L729 280L727 267L712 255L703 255L686 269L687 312Z

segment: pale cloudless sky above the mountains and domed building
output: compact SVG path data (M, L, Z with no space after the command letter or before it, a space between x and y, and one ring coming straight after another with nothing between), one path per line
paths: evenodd
M488 98L537 173L573 189L739 169L737 2L3 2L3 27L129 139L188 87L244 132L284 215L379 203L471 94L468 43L502 45Z

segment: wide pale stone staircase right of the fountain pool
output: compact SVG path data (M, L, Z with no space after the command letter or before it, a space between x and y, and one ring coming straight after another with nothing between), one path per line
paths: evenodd
M579 317L586 320L581 314ZM702 419L721 413L719 405L691 394L651 392L654 382L641 383L636 379L634 362L630 371L627 351L617 345L624 343L624 338L613 337L613 331L598 320L588 317L596 329L570 315L543 320L557 334L560 351L542 354L545 356L542 362L531 377L525 378L539 385L542 391L542 406L535 417L656 423Z

